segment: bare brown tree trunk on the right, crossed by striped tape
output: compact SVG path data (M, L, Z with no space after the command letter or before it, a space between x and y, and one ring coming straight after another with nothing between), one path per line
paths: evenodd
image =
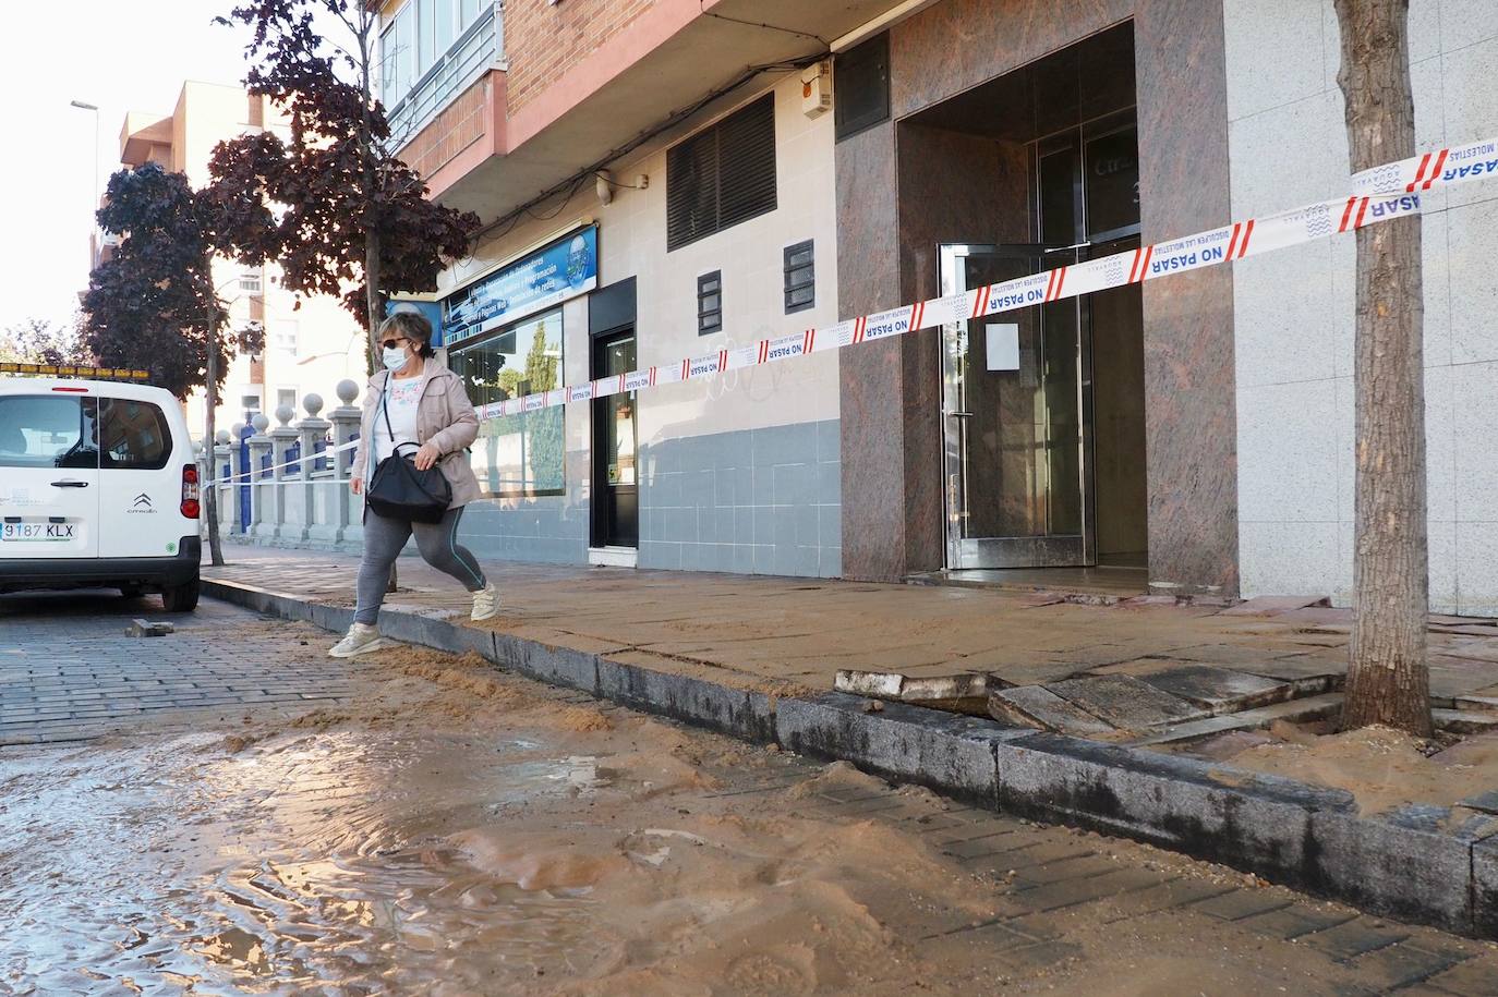
M1408 0L1335 0L1353 171L1414 154ZM1357 231L1357 552L1342 728L1431 734L1420 216Z

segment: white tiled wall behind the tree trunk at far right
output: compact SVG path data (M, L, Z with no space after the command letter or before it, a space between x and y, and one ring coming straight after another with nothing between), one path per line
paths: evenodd
M1332 3L1225 0L1224 18L1233 217L1339 196L1348 157ZM1410 52L1420 148L1498 135L1498 0L1411 0ZM1498 615L1498 184L1425 207L1431 603ZM1234 266L1243 594L1318 591L1345 605L1354 240Z

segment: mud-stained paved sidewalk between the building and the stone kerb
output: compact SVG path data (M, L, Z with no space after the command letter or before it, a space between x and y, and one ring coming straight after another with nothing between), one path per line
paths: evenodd
M244 545L229 545L226 557L229 564L205 567L205 576L354 605L357 557ZM419 558L401 558L398 573L401 591L389 605L469 605L457 584ZM839 669L992 672L1001 686L1055 689L1076 675L1156 681L1161 669L1210 665L1302 683L1297 695L1314 695L1324 690L1317 683L1330 677L1335 687L1345 674L1351 629L1347 611L1303 606L1305 599L1234 608L1158 599L1083 605L1046 591L697 572L499 563L491 573L502 612L490 626L503 633L653 671L818 692L833 689ZM1495 623L1432 617L1437 705L1465 696L1498 705Z

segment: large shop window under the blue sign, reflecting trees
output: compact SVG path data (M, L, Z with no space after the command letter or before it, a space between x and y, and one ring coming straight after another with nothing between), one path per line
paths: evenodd
M562 386L562 311L517 322L499 332L452 346L448 365L463 379L475 407ZM563 409L539 409L484 419L472 464L488 496L560 496Z

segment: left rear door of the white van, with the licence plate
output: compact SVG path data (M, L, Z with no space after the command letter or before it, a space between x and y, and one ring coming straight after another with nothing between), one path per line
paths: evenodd
M97 400L0 394L0 560L99 557Z

